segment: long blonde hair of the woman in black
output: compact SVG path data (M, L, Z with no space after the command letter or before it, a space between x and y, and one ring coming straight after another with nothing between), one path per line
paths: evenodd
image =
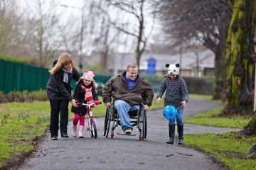
M75 63L73 61L73 57L68 54L68 52L63 52L58 58L58 62L55 64L53 68L49 70L50 74L55 74L59 69L63 67L63 65L71 64L72 68L75 69Z

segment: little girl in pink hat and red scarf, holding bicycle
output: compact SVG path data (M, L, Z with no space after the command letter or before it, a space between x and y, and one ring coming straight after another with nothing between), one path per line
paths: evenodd
M75 92L73 96L77 102L92 103L93 101L95 101L95 104L100 103L96 93L97 86L95 84L95 81L93 80L94 76L95 72L85 71L83 73L77 86L75 87ZM78 121L80 121L79 138L82 138L82 132L85 127L85 115L87 113L87 108L86 106L81 106L78 108L72 106L71 111L74 113L72 136L77 137L77 125Z

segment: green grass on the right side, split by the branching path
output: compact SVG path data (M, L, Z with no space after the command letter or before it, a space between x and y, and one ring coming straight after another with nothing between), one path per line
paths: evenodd
M203 98L211 101L211 96L192 95L195 98ZM218 102L220 101L213 101ZM220 117L218 114L223 107L215 108L206 113L199 113L186 118L184 123L194 125L215 126L220 128L242 129L250 120L247 115L233 115L232 117ZM240 136L236 132L224 134L193 134L184 136L184 145L204 152L213 159L224 164L224 169L256 169L256 155L247 155L251 147L255 145L256 136Z

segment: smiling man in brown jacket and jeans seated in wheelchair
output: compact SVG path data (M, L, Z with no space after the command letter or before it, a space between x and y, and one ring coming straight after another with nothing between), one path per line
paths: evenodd
M147 110L151 106L154 92L149 82L138 74L137 64L132 62L127 64L126 71L107 81L102 89L102 98L106 106L110 106L113 98L122 130L131 134L132 125L128 112L132 108L140 110L141 103L144 104L144 110Z

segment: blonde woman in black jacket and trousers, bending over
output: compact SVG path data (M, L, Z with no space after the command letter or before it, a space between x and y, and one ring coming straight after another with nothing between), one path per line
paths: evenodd
M76 107L75 99L71 96L71 79L78 81L80 74L75 69L73 58L67 52L63 52L58 61L55 61L50 69L50 79L46 85L47 96L50 101L50 136L52 140L58 140L59 113L61 137L68 137L68 102Z

